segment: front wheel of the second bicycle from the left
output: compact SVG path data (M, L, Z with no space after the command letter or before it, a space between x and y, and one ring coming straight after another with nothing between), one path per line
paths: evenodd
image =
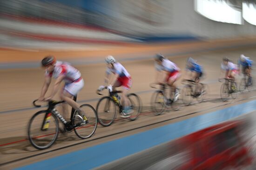
M101 98L97 104L96 113L98 121L102 126L109 126L112 124L116 115L114 100L108 96Z

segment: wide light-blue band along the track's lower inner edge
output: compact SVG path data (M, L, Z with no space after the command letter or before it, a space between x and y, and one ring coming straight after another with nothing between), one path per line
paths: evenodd
M86 149L70 152L58 157L46 159L44 161L17 168L17 170L90 170L255 110L256 100L253 100L130 135L128 137L122 137L103 144L98 144Z

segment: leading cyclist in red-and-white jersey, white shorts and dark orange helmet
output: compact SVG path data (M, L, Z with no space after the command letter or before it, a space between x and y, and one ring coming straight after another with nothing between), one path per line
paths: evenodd
M78 111L78 113L83 117L83 121L87 122L84 112L72 99L84 86L84 80L81 77L81 73L69 63L56 61L54 56L47 56L42 59L41 65L45 69L45 78L38 100L47 101L54 98L55 94L58 92L61 82L64 81L65 86L61 92L61 100L64 100L68 105L72 106L76 111ZM45 94L49 85L51 84L52 77L56 78L53 91L49 97L45 98ZM68 116L67 104L62 104L64 118L67 118Z

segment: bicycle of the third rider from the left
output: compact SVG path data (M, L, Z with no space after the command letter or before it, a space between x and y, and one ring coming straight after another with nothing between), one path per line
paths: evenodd
M161 115L166 109L172 108L175 111L179 110L181 107L181 101L179 98L168 98L166 89L168 85L159 83L159 90L156 90L151 97L151 109L154 111L155 115ZM153 84L150 85L151 88L156 89Z

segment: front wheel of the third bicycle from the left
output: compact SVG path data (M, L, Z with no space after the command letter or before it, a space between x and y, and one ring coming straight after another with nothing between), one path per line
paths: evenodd
M155 115L160 115L165 110L165 103L167 98L162 91L156 91L151 97L151 109Z

